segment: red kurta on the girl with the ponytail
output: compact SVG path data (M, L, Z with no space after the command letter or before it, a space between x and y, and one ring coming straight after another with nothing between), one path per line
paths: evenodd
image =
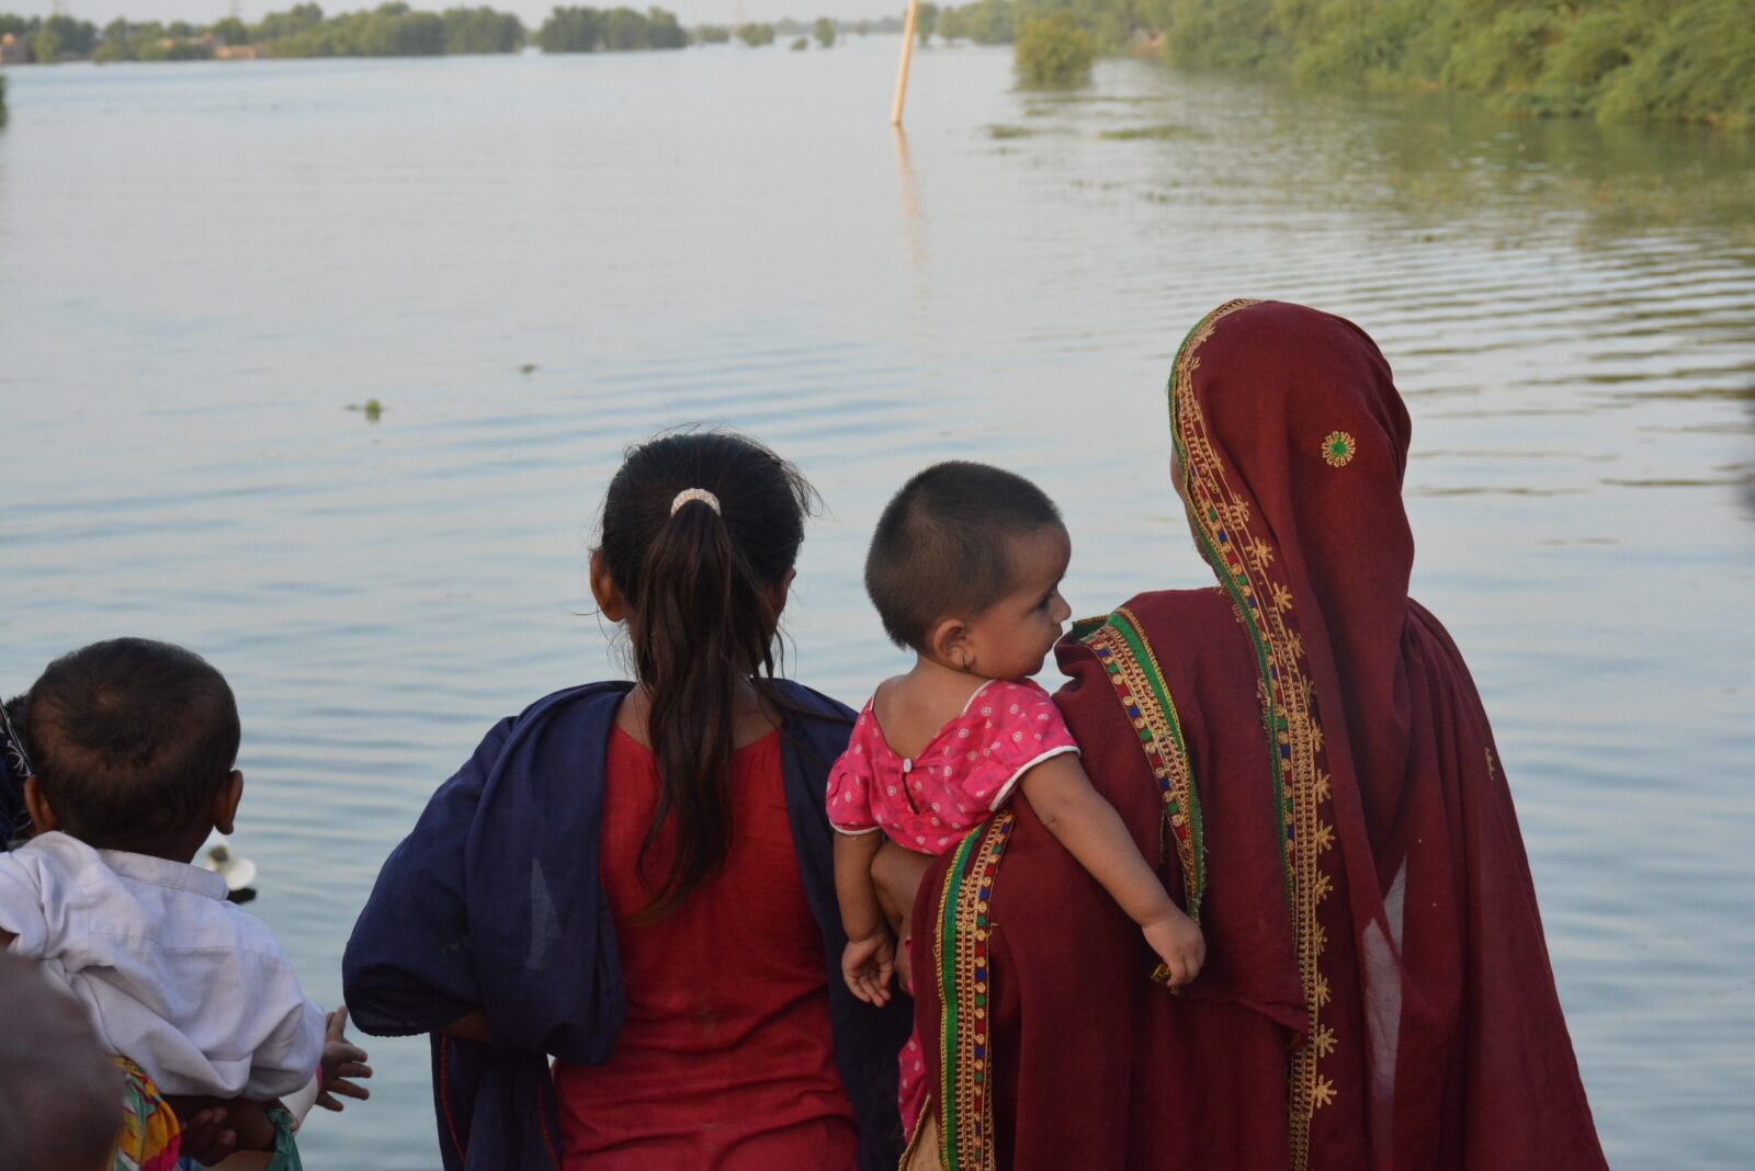
M674 915L635 922L635 876L658 801L649 749L609 743L604 889L628 1013L602 1066L556 1066L567 1167L853 1167L853 1108L835 1071L823 936L786 820L779 733L732 757L737 827L725 869ZM674 834L648 873L662 875Z

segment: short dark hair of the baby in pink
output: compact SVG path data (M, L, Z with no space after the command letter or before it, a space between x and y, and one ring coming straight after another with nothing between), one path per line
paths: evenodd
M948 615L974 617L1013 589L1009 538L1060 528L1060 510L1030 480L951 459L902 486L872 533L865 593L885 633L920 650Z

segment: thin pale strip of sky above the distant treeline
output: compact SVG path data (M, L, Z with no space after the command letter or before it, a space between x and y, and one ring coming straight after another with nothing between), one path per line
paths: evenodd
M298 0L239 0L239 12L246 21L258 21L267 12L284 12ZM618 0L569 0L588 7L614 7ZM630 7L644 9L655 0L620 0ZM377 7L372 4L337 2L321 4L323 12L353 12ZM516 12L525 25L535 28L555 7L555 0L411 0L416 9L441 11L449 7L476 7L486 4L500 12ZM95 25L107 25L118 16L130 21L190 21L191 25L211 25L232 12L232 0L65 0L67 14ZM741 19L779 19L793 16L811 19L818 16L835 16L842 19L876 19L885 9L895 7L897 14L906 9L904 0L663 0L658 7L676 12L684 25L728 25ZM0 0L0 12L18 12L23 16L49 16L54 9L51 0Z

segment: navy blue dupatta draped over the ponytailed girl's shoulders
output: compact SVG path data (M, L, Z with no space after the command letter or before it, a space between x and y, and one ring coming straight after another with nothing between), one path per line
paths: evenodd
M835 1062L860 1129L860 1169L902 1148L897 1052L913 1006L862 1004L839 978L823 792L853 724L846 706L777 682L786 810L811 913L823 933ZM560 1166L549 1057L597 1064L614 1050L625 997L609 899L598 880L604 759L630 684L555 692L505 719L451 780L377 876L342 962L355 1024L376 1036L433 1034L433 1108L446 1171ZM495 1043L437 1031L484 1008Z

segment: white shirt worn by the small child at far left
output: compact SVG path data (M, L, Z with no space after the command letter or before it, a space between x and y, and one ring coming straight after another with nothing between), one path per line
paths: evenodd
M46 833L0 854L0 929L163 1094L279 1097L323 1057L323 1011L212 871Z

